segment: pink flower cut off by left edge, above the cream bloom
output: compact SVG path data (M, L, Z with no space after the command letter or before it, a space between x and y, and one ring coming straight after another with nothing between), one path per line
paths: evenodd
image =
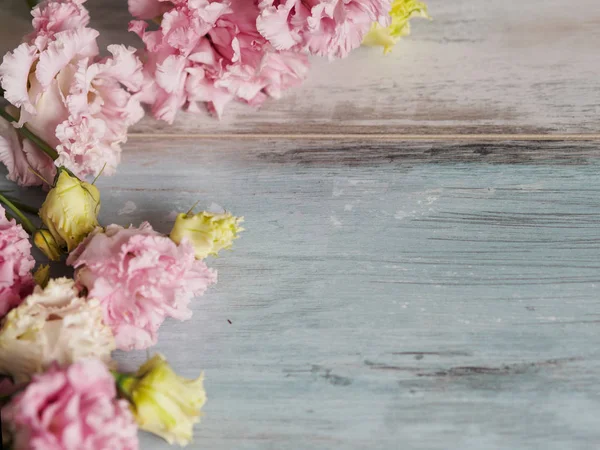
M18 306L34 287L29 236L0 206L0 317Z

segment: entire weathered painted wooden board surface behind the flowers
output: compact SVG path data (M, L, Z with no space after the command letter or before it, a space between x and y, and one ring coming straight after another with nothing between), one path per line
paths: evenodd
M258 112L145 119L101 180L104 223L246 217L152 349L206 372L191 448L600 448L600 7L428 3ZM89 0L103 43L138 45L124 5ZM5 51L21 0L0 21Z

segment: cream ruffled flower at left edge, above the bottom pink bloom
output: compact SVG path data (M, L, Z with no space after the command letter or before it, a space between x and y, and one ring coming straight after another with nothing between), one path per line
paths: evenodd
M59 278L50 280L45 289L37 286L4 319L0 373L20 383L53 361L64 365L95 357L110 364L114 349L112 332L102 322L100 304L79 297L73 280Z

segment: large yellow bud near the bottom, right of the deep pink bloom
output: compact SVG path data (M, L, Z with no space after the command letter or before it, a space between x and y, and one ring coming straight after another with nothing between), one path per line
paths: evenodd
M206 403L203 377L178 376L165 358L157 354L135 375L117 374L119 389L132 403L142 430L154 433L169 444L189 444L200 409Z

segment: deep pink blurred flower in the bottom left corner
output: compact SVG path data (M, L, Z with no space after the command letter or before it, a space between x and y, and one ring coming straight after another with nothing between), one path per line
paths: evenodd
M136 450L137 425L116 394L98 360L53 366L2 408L3 426L15 449Z

